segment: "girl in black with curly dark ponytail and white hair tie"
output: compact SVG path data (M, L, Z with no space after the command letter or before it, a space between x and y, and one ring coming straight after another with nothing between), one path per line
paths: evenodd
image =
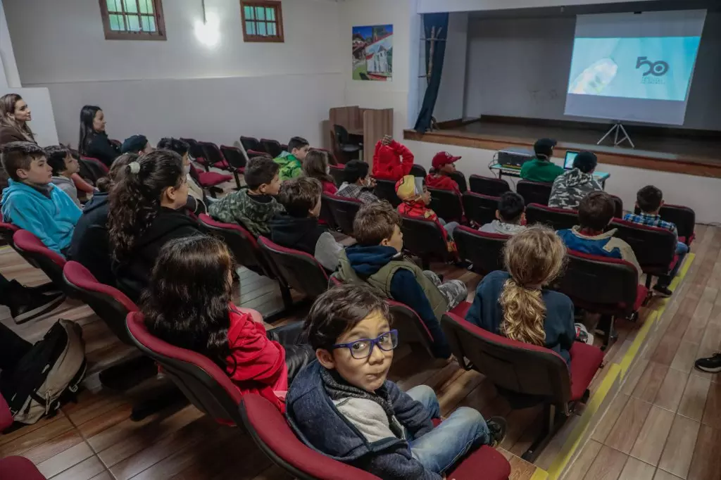
M162 246L197 234L200 226L183 211L187 183L180 155L156 150L123 170L123 178L110 192L107 226L115 280L136 301Z

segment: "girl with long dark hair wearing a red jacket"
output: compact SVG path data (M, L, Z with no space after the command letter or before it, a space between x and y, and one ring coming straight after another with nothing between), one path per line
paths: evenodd
M301 342L303 322L266 332L260 314L232 303L234 262L223 241L194 235L161 249L141 311L152 334L205 355L243 393L281 411L288 385L315 357Z

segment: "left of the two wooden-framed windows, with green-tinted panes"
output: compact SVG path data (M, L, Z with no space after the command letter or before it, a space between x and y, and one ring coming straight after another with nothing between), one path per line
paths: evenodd
M165 40L162 0L99 0L105 40Z

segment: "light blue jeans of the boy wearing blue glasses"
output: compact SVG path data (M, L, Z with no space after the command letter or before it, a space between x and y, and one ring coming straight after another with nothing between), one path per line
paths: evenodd
M441 418L441 406L433 388L420 385L406 393L415 401L420 401L433 418ZM413 458L436 474L443 474L472 448L491 443L482 415L467 406L456 409L441 425L422 437L413 438L410 432L406 432L406 436Z

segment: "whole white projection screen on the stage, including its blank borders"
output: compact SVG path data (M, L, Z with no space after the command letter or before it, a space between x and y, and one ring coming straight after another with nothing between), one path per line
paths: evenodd
M578 15L565 115L683 125L705 17Z

